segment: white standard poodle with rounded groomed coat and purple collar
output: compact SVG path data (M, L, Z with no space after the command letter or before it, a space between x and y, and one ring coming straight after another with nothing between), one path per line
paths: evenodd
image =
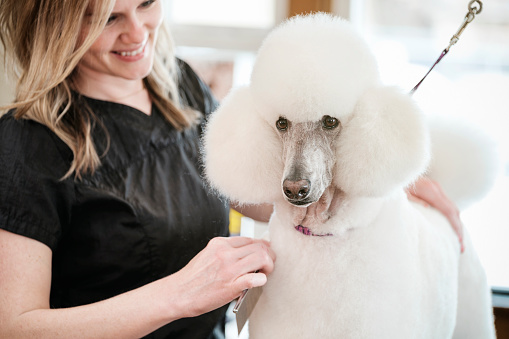
M348 22L317 13L269 34L250 84L228 94L204 137L214 189L275 206L277 260L249 319L251 338L495 336L468 235L460 254L447 220L403 190L448 151L470 166L438 175L460 188L455 198L489 183L471 152L476 141L447 133L435 155L419 108L380 83L375 58ZM434 163L439 174L442 165Z

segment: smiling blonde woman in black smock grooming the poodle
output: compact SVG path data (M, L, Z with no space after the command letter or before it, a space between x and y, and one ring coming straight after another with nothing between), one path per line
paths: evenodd
M0 1L20 73L0 121L2 338L221 337L221 307L272 271L201 180L216 101L168 50L162 5Z

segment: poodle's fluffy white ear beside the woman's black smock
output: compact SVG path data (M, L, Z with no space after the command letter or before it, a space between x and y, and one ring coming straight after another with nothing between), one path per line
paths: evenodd
M206 178L239 203L272 203L281 195L281 141L259 109L250 89L238 88L224 98L205 129Z

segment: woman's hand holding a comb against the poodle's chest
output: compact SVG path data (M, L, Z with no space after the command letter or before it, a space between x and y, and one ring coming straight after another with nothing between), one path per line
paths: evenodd
M212 311L237 298L243 290L264 285L275 259L265 240L214 238L189 264L170 276L183 288L176 294L176 302L181 304L184 316Z

